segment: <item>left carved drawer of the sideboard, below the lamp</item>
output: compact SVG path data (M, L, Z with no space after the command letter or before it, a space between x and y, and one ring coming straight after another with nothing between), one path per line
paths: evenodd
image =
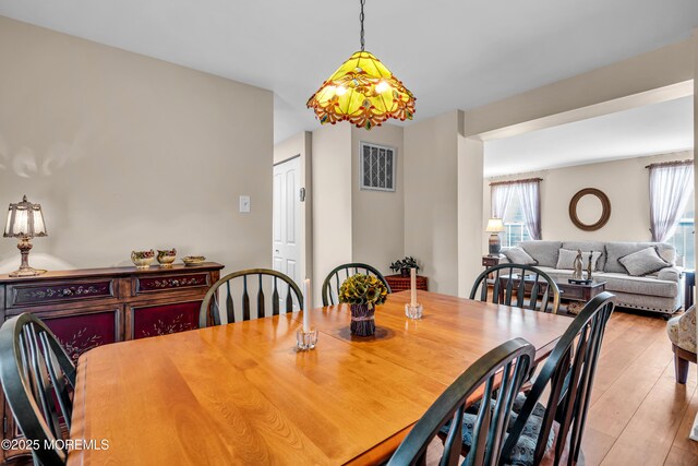
M116 298L112 278L8 285L7 307L56 304L85 299Z

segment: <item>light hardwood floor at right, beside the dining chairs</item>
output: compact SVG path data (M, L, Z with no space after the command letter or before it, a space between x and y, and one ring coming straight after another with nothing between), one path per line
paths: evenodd
M606 327L583 437L588 466L698 465L688 433L698 411L696 365L674 379L666 322L616 311ZM430 445L430 464L440 452Z

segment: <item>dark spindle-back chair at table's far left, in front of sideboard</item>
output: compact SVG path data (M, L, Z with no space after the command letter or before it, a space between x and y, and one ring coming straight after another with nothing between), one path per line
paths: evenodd
M250 304L250 295L254 294L254 289L250 289L252 283L256 286L254 297L256 312L254 314ZM268 291L270 291L272 315L278 315L281 306L287 313L293 312L293 297L296 297L297 310L302 310L303 294L288 275L270 268L248 268L226 275L208 289L198 311L198 326L203 328L209 324L220 325L222 323L221 312L224 310L220 302L226 304L225 312L228 323L236 322L236 299L233 298L236 291L240 296L238 306L241 309L241 319L239 320L249 321L253 315L255 318L267 316L265 288L270 288Z

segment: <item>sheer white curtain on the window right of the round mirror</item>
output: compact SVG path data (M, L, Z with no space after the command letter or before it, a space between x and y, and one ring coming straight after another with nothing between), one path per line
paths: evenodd
M650 166L650 223L652 241L674 235L694 187L690 163Z

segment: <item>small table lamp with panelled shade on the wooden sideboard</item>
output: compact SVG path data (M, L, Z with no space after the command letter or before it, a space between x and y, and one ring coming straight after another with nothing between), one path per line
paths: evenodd
M46 224L44 223L44 214L39 204L32 204L26 200L26 195L22 199L22 202L10 204L3 236L5 238L20 238L17 249L22 253L22 264L20 270L10 274L11 277L32 277L46 272L29 266L31 239L37 236L46 236Z

